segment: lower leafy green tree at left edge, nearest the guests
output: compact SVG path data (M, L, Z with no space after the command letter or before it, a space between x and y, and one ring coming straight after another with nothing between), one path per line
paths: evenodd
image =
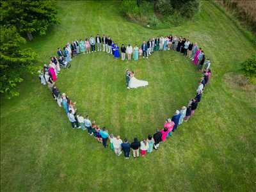
M36 62L36 53L31 49L20 49L20 45L26 43L15 27L1 28L0 40L0 93L9 96L17 96L15 89L17 83L23 81L24 72L33 72L33 64Z

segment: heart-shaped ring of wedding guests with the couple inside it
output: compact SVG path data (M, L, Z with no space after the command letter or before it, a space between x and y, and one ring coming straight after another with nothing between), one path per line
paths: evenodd
M99 128L95 122L91 122L89 116L81 116L76 114L76 102L72 102L70 98L67 97L65 93L60 92L55 85L58 73L61 68L69 68L72 57L77 56L78 54L89 54L91 52L96 52L95 47L97 46L97 51L107 52L108 54L113 54L113 57L121 58L122 61L125 60L127 54L128 61L131 61L132 58L134 61L138 61L139 58L146 58L152 55L156 51L177 51L182 53L184 56L188 57L193 64L197 67L199 71L202 72L202 78L198 82L198 88L196 89L196 96L194 99L189 100L187 106L183 106L180 110L175 111L172 118L167 118L163 129L157 130L153 135L148 135L147 139L139 141L137 138L134 138L132 143L128 143L127 139L124 141L121 140L120 136L113 136L109 134L108 130L103 127ZM145 156L147 153L151 153L153 149L157 150L160 143L172 136L172 132L177 130L177 127L183 122L188 122L189 118L195 113L195 109L198 106L198 103L201 100L202 93L204 92L205 85L209 83L211 77L211 62L209 59L205 60L204 51L198 47L195 43L193 44L186 38L177 37L177 36L166 36L165 38L150 38L147 42L138 47L135 45L132 47L130 44L125 47L122 44L122 47L118 47L117 44L114 44L113 40L110 37L103 35L102 38L97 35L95 38L93 36L90 39L86 38L84 41L74 41L72 44L67 43L63 47L58 48L57 51L58 57L52 56L49 65L44 65L43 71L39 71L39 77L42 84L47 84L51 90L52 96L58 103L60 107L65 109L67 113L68 120L70 121L73 129L82 129L83 131L87 129L88 134L93 135L103 146L108 147L108 139L110 140L110 148L114 150L117 156L124 152L125 158L130 157L130 152L132 150L132 156L134 158ZM131 77L133 77L132 72L125 72L126 86L127 88L135 88L136 86L131 86ZM138 79L136 79L138 80ZM140 80L138 80L140 81ZM138 83L136 81L136 83ZM135 84L136 84L135 83ZM140 84L140 82L138 83ZM141 86L146 86L147 81L143 81Z

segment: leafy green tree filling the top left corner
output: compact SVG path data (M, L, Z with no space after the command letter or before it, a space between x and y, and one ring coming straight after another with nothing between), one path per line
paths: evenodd
M55 1L1 1L1 26L15 26L20 35L33 39L33 33L45 35L49 26L58 23Z

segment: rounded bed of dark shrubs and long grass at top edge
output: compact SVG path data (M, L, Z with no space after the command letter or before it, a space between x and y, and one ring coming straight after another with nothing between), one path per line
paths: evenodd
M121 12L129 20L150 28L179 26L199 9L198 0L136 0L121 2Z

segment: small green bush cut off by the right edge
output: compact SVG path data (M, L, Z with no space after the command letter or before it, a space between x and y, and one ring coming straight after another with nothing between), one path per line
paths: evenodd
M242 70L247 77L256 77L256 54L242 63Z

